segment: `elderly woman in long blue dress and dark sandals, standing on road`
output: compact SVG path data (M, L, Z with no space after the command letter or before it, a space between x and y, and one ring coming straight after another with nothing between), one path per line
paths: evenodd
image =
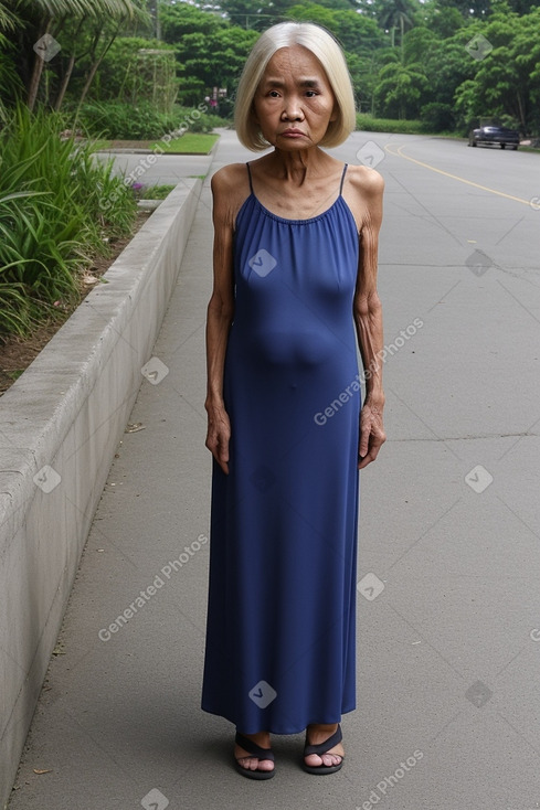
M358 471L385 439L383 181L320 148L350 135L354 102L342 52L317 25L262 34L235 121L248 149L273 149L212 178L202 708L235 724L242 775L274 776L269 735L304 731L304 769L332 774L356 705Z

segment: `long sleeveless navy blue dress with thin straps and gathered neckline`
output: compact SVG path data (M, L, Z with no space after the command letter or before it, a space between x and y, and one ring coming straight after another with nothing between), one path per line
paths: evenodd
M202 708L244 734L295 734L356 706L359 238L346 171L309 220L266 210L250 173L236 217Z

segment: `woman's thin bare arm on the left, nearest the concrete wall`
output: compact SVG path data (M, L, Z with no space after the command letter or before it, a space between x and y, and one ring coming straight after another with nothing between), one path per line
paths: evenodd
M208 388L204 407L208 413L207 447L229 473L229 439L231 424L223 401L223 372L229 330L234 316L233 227L229 167L212 178L213 195L213 289L207 318Z

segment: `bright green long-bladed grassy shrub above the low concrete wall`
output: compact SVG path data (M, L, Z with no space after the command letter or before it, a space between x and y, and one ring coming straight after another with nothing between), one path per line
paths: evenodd
M55 305L74 303L83 267L135 221L134 194L112 162L62 139L64 124L21 105L0 134L0 334L25 334Z

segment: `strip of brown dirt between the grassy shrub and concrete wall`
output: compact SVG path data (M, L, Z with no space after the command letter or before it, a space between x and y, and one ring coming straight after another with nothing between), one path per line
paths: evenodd
M93 264L85 270L83 279L92 280L93 278L97 279L99 276L103 276L126 245L131 242L134 235L145 224L151 213L151 211L138 212L133 234L110 242L112 255L105 258L97 257L94 259ZM59 312L57 317L51 319L51 321L36 327L28 338L11 337L7 340L0 339L0 396L13 385L22 372L35 360L41 350L45 348L51 338L56 334L62 324L65 323L67 318L95 286L95 283L82 285L78 300L75 301L68 311Z

